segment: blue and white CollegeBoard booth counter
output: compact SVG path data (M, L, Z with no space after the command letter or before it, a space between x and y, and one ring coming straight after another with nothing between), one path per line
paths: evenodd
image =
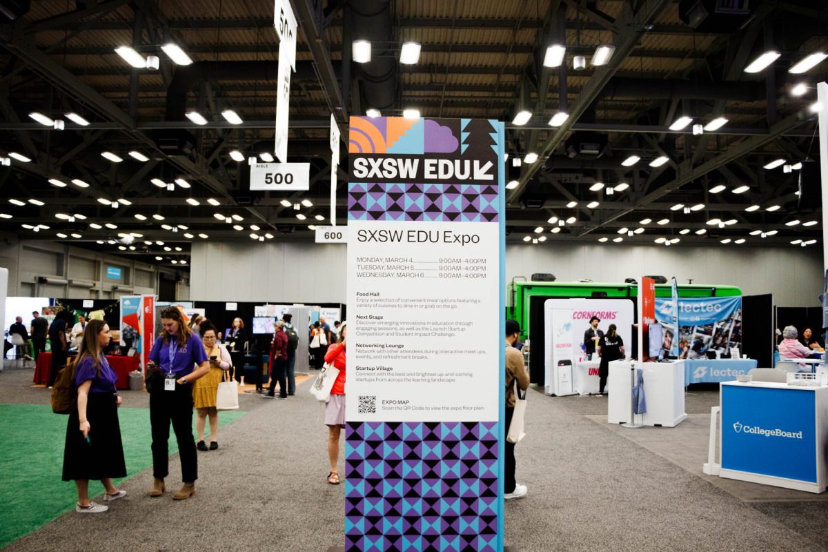
M824 492L828 387L720 384L720 477Z

